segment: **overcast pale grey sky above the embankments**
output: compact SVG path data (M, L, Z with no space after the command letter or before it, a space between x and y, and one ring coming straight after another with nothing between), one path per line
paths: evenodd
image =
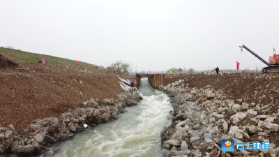
M103 66L252 69L265 65L239 45L265 60L279 53L275 0L0 0L0 19L0 46Z

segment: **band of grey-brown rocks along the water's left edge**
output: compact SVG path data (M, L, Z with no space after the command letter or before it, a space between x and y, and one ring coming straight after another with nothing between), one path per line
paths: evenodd
M141 99L139 94L122 93L115 99L103 99L101 105L94 99L86 100L79 108L63 113L59 118L36 119L22 130L15 130L12 124L0 126L0 156L41 154L49 144L67 140L88 127L118 119L126 106L137 105Z

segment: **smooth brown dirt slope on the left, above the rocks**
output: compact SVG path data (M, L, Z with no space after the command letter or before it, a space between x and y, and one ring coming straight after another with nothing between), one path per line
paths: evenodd
M17 65L6 57L0 59L0 126L24 128L34 119L59 117L84 100L100 102L123 92L116 75L107 75L103 69L67 64Z

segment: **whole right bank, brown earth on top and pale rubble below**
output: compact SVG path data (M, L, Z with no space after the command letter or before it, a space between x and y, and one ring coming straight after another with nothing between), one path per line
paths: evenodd
M163 155L279 156L278 76L167 76L160 89L169 94L175 118L161 134ZM221 151L223 139L234 140L234 151ZM238 150L236 142L267 142L269 148Z

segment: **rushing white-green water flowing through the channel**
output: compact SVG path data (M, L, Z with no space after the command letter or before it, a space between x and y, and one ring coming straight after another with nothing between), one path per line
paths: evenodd
M160 156L160 131L171 122L169 98L146 78L138 92L143 100L119 119L75 135L47 156Z

